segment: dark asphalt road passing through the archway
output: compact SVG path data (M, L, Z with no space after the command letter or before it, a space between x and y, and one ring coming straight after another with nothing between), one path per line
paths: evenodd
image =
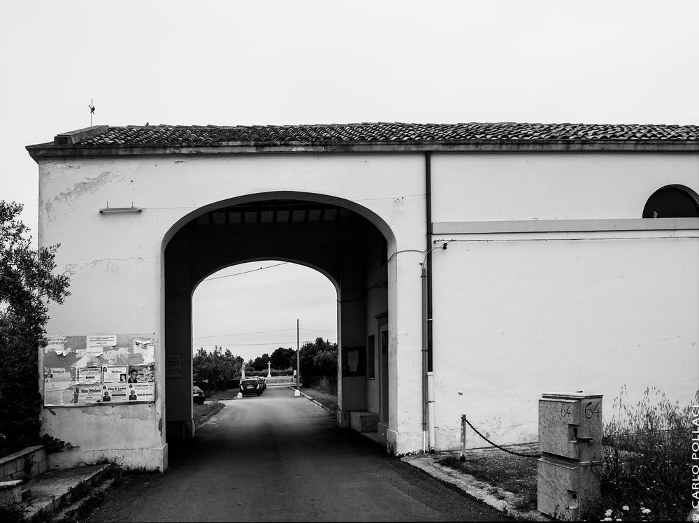
M128 475L87 519L505 521L489 506L337 428L287 387L224 401L164 474Z

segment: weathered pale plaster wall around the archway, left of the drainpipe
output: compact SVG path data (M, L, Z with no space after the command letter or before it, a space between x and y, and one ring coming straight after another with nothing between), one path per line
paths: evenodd
M347 200L354 210L365 209L375 217L375 224L389 238L389 252L424 245L421 155L41 160L39 175L39 243L61 244L58 270L71 277L71 296L64 305L51 307L49 334L154 332L161 341L164 246L178 227L204 212L201 208L238 196L284 192L322 195L324 201ZM99 213L107 206L132 203L143 211ZM389 270L395 274L403 269L396 264ZM419 345L419 324L415 329L407 326L415 318L419 321L419 294L410 298L411 293L419 293L419 286L397 285L395 289L404 301L400 311L396 307L392 313L392 325L398 332L391 344L391 361L396 367L407 366L394 373L419 373L410 359L398 358L399 340ZM414 336L417 340L412 341ZM363 338L358 343L364 343ZM126 466L166 467L161 343L158 350L154 404L43 411L44 430L76 446L62 454L61 464L118 455ZM419 413L419 403L398 401L403 395L401 384L392 383L391 405L400 406L403 413ZM396 414L392 427L396 434L406 435L401 445L408 452L410 434L419 432L415 416Z

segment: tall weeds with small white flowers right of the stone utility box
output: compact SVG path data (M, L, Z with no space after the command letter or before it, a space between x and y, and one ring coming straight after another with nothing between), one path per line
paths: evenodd
M655 388L633 406L625 398L626 387L605 422L602 499L592 519L684 520L691 509L691 405L671 403Z

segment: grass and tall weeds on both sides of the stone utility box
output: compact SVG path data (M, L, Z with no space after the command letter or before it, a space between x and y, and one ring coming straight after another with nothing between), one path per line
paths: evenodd
M646 389L635 405L622 390L603 426L601 497L588 520L681 521L691 508L691 406ZM693 401L699 405L699 392ZM442 457L440 464L517 496L512 508L536 508L537 462L495 449Z

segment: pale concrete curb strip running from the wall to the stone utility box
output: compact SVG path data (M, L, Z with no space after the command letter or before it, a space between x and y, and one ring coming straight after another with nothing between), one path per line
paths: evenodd
M538 512L538 510L519 510L514 508L512 505L515 499L517 499L517 496L512 494L512 492L494 487L489 483L478 480L470 474L457 472L452 468L440 465L431 455L408 454L399 459L403 461L403 463L419 468L435 479L449 483L449 485L454 485L454 487L457 487L469 496L482 501L496 510L500 510L500 512L505 515L515 517L517 520L552 521L549 517ZM493 494L493 492L495 494Z

